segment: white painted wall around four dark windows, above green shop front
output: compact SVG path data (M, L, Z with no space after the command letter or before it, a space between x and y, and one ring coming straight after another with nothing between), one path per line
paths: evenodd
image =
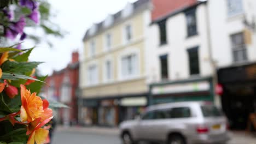
M168 75L171 81L189 79L188 52L195 46L199 46L200 76L212 74L209 59L207 40L206 5L201 4L196 9L198 35L187 38L187 23L185 14L180 13L169 17L166 22L167 44L160 46L159 27L153 24L148 27L146 48L146 73L147 83L160 82L159 56L168 55Z

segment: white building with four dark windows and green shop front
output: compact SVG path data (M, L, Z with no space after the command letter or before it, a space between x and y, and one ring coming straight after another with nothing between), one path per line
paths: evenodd
M153 1L161 3L161 1ZM150 104L214 100L207 3L168 1L176 7L152 14L146 50ZM161 9L161 4L159 9ZM163 4L162 4L163 5ZM155 7L156 11L158 7ZM163 12L164 13L164 12Z

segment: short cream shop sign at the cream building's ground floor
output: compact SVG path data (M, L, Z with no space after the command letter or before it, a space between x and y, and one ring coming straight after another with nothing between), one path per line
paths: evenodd
M120 100L121 106L146 106L147 105L146 97L137 97L137 98L123 98Z

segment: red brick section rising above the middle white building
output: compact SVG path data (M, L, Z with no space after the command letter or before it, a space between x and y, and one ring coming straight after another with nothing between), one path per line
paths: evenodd
M188 7L197 2L197 0L153 0L152 20L157 20L160 17L173 13L178 9Z

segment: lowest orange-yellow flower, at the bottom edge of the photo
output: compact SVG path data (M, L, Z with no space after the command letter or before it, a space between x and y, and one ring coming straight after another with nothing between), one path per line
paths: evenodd
M53 117L45 119L42 123L40 123L40 119L37 118L28 124L26 134L30 136L28 137L27 144L34 144L35 141L37 144L43 144L47 140L49 130L43 129L42 127L50 122Z

